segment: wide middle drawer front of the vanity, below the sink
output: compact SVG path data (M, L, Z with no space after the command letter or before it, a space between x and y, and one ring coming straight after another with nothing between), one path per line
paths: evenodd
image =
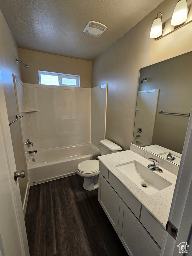
M131 192L109 171L109 183L115 189L117 194L123 199L135 216L139 219L141 203L131 194Z

